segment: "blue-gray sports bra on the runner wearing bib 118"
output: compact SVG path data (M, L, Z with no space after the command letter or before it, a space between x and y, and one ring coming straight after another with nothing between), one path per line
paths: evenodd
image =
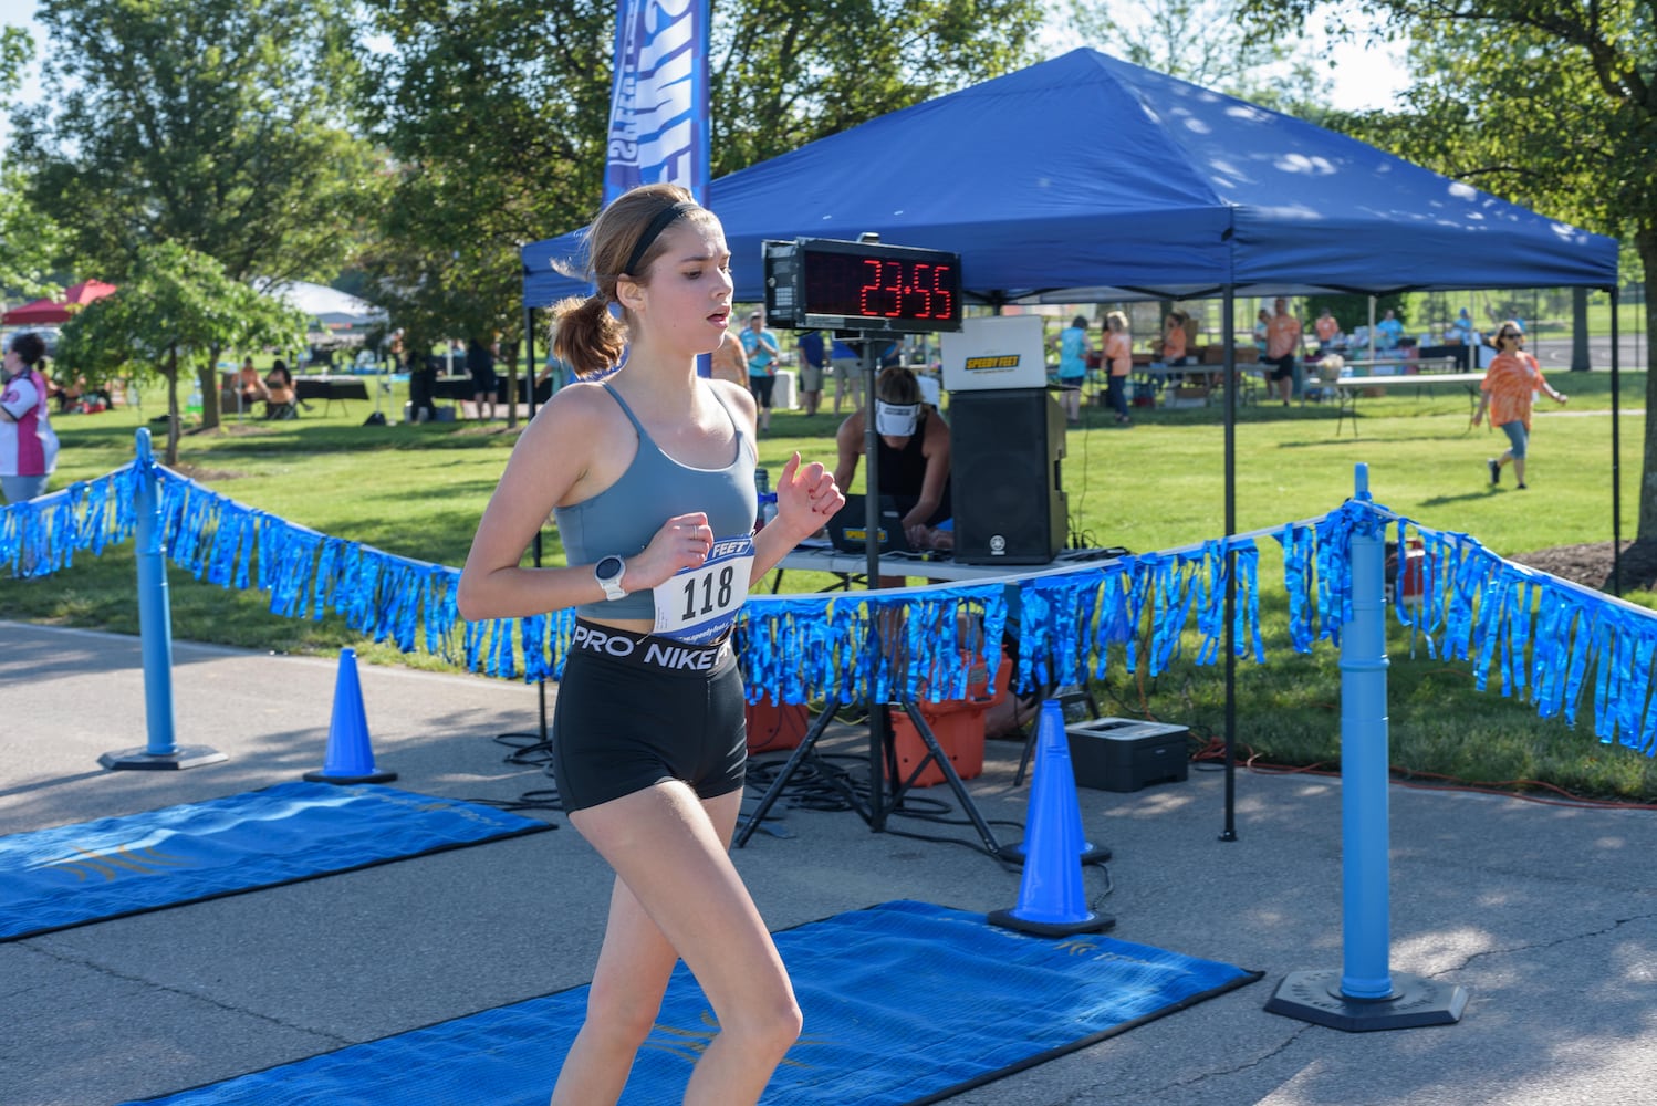
M708 384L714 399L731 417L736 430L736 457L724 469L693 469L668 457L651 440L650 432L610 384L603 386L633 424L638 452L621 478L590 500L558 507L553 518L563 540L565 561L592 565L611 553L633 556L650 545L661 523L674 515L706 512L714 538L734 538L754 530L759 495L754 488L754 444L742 434L719 389ZM577 614L590 618L651 618L655 604L650 589L631 591L621 599L582 603Z

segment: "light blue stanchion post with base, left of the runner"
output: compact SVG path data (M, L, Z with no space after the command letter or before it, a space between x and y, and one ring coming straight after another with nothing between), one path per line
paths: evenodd
M143 748L104 753L104 768L199 768L229 760L205 745L179 745L172 714L172 601L167 594L167 550L161 523L161 480L149 449L149 427L138 427L138 497L134 543L138 550L138 636L144 659Z

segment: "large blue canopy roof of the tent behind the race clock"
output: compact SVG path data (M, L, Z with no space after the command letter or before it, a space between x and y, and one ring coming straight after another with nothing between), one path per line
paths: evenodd
M979 301L1611 286L1617 243L1241 99L1074 50L709 185L737 300L761 242L961 253ZM580 232L524 248L525 301L585 293Z

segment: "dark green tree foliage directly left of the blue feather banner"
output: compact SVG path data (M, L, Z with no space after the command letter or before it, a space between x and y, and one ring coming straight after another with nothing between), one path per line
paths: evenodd
M365 10L373 48L358 106L391 159L363 258L371 298L416 354L454 336L510 341L522 331L520 243L580 225L597 195L615 3Z

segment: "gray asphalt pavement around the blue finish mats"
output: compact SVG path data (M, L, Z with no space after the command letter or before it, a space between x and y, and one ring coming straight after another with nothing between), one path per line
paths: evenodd
M229 758L109 772L99 755L147 740L138 639L0 623L0 833L297 780L321 767L336 674L333 659L176 642L177 740ZM545 786L495 740L539 730L535 687L366 664L360 682L391 786L494 800ZM863 740L838 727L825 747ZM1026 816L1019 748L989 742L968 781L986 818ZM1389 788L1390 969L1468 1002L1450 1025L1349 1033L1264 1008L1289 974L1342 969L1341 780L1239 772L1236 839L1221 839L1225 791L1206 768L1080 788L1089 838L1115 854L1109 894L1099 873L1087 892L1117 937L1266 979L951 1103L1650 1099L1657 813ZM0 1103L159 1096L585 983L608 874L562 815L542 816L558 830L0 944ZM780 828L736 853L772 929L890 899L1017 904L1017 876L974 848L872 833L850 811L792 810Z

